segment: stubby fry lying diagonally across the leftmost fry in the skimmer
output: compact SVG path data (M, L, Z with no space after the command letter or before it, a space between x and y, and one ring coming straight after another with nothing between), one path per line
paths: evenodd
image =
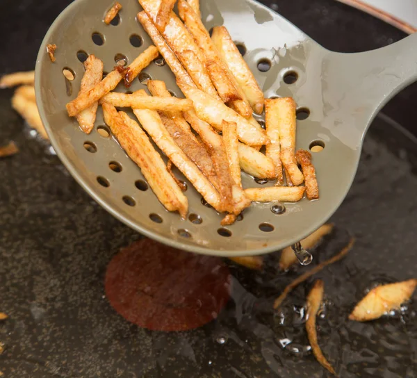
M115 89L122 80L122 74L113 70L102 81L86 92L79 93L76 99L67 104L67 112L70 117L74 117L82 110L90 108L92 104L99 101L101 97Z

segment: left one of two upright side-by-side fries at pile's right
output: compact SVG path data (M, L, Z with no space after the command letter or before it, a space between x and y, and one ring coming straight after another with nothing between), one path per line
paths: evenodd
M270 138L270 144L266 146L265 154L275 164L277 186L282 186L284 183L284 175L280 157L281 145L279 144L279 103L276 100L265 100L265 130L266 135Z

